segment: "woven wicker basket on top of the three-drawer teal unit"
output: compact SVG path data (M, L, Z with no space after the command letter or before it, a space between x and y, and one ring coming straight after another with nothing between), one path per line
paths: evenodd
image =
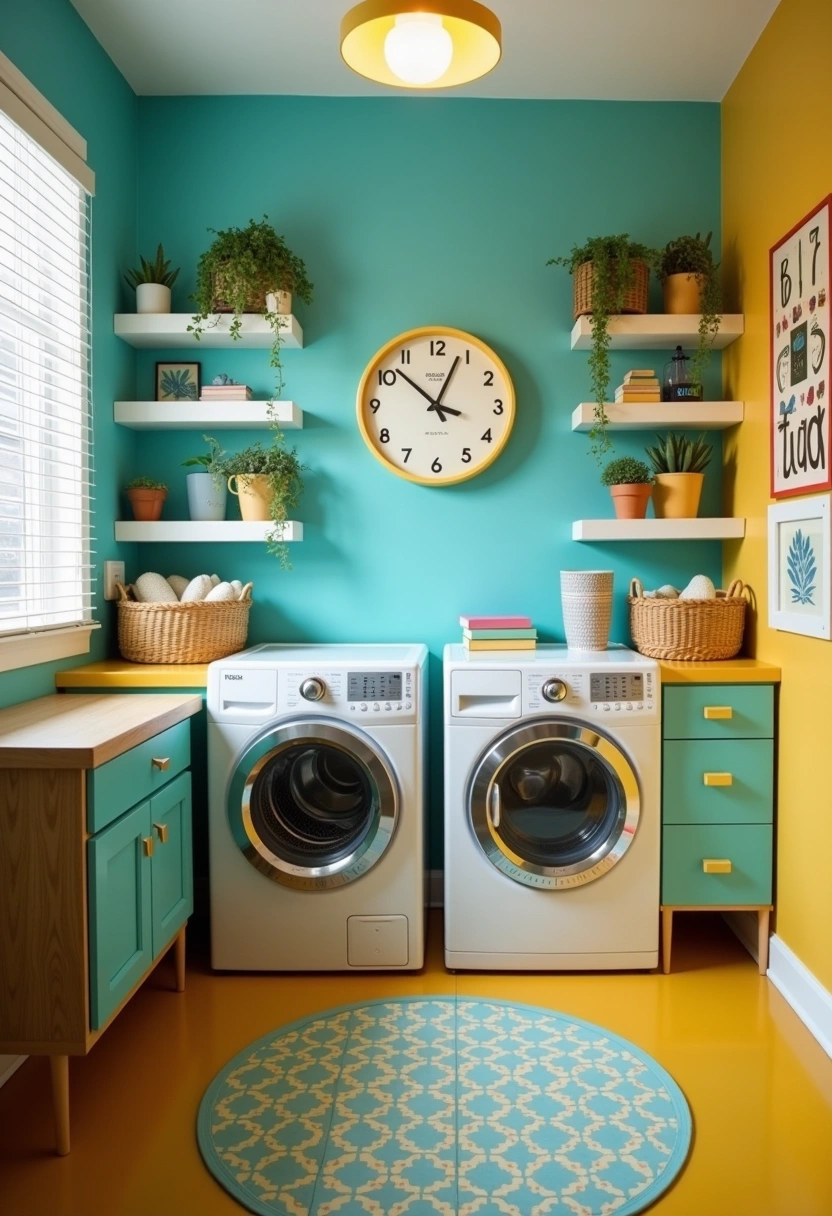
M732 659L742 647L751 591L735 579L715 599L646 599L630 582L633 644L651 659Z

